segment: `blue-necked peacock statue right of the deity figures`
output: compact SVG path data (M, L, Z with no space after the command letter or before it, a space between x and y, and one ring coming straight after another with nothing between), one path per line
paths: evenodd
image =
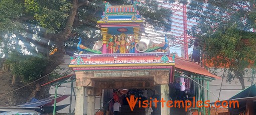
M168 40L167 40L167 37L165 35L165 41L164 42L161 42L161 43L154 43L154 42L150 42L149 43L149 48L145 51L145 52L151 52L151 51L154 51L154 50L157 50L157 49L162 49L162 50L165 50L169 45L168 45Z

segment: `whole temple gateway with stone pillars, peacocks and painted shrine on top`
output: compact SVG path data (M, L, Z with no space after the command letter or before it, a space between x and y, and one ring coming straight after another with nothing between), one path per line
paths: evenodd
M105 10L97 22L102 39L89 49L80 38L77 48L81 53L69 65L76 74L75 114L83 114L84 93L87 114L94 114L95 96L101 95L102 89L152 88L168 100L175 64L166 37L162 43L140 41L144 25L138 1L133 5L103 3ZM170 109L162 107L161 114L169 115Z

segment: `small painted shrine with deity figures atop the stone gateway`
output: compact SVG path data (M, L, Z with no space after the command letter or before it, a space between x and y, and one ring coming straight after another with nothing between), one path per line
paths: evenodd
M133 35L132 38L126 40L128 41L127 45L129 45L130 48L128 51L138 52L138 50L135 50L135 44L139 42L140 33L144 32L144 25L141 15L136 8L137 3L138 2L136 1L133 5L112 6L109 2L104 1L105 11L103 12L102 19L98 21L98 25L101 28L101 33L103 35L102 53L107 53L107 41L113 38L113 36L115 41L121 41L126 40L127 35ZM125 47L125 42L121 41L119 43L120 46L116 46L113 52L118 51L116 48L119 48L120 53L128 52Z

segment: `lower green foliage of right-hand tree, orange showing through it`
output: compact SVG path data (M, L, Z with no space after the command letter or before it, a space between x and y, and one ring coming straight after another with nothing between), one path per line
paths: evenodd
M215 67L228 65L227 81L231 82L238 78L244 86L243 76L248 71L245 68L256 66L255 35L255 32L241 31L237 26L231 26L224 30L216 30L211 35L203 35L199 39L204 58L213 59ZM250 45L246 45L242 39L248 39Z

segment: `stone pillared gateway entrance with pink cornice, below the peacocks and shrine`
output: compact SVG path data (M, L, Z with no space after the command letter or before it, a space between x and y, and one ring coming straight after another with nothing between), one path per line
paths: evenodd
M168 61L161 61L162 57L167 57ZM108 63L110 60L115 60L115 63ZM131 60L130 63L128 60ZM159 86L160 89L156 92L164 100L169 100L169 82L174 77L174 65L170 54L164 52L112 54L111 56L101 54L100 57L93 54L78 54L69 65L76 74L75 114L83 114L85 93L87 93L88 102L87 114L94 114L95 95L100 95L102 89ZM161 114L169 115L170 110L166 102L164 104Z

